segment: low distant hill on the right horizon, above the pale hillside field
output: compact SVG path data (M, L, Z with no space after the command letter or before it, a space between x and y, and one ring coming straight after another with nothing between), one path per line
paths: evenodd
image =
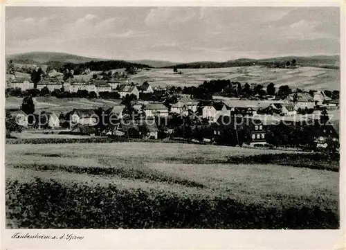
M178 69L201 69L201 68L228 68L233 66L252 66L252 65L263 65L263 66L275 66L275 64L284 64L287 61L296 60L297 64L302 66L315 66L320 68L338 69L340 66L339 55L315 55L311 57L297 57L297 56L286 56L286 57L272 57L264 59L251 59L241 58L237 60L228 60L226 62L190 62L185 64L175 64L171 66L165 66L164 68Z

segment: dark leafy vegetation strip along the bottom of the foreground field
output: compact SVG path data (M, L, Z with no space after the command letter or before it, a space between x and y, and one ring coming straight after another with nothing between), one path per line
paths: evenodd
M338 229L329 209L35 179L6 181L8 226L35 229Z

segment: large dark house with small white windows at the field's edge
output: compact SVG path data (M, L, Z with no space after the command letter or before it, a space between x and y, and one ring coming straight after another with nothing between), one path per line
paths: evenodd
M233 141L233 145L266 144L266 132L262 120L253 116L219 116L213 125L215 139ZM229 131L233 131L230 133ZM229 136L232 136L230 138ZM225 142L225 141L224 141Z

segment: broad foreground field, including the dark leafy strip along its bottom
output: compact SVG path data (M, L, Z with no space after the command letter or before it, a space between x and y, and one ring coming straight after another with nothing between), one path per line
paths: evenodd
M268 159L259 161L263 154ZM306 168L298 164L305 161ZM6 181L7 225L14 228L338 227L338 161L298 152L181 143L6 145ZM112 215L119 211L121 219ZM55 213L59 219L50 222ZM88 213L96 219L83 225Z

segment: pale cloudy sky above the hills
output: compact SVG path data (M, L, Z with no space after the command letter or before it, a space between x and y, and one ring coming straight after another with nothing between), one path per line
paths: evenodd
M340 54L337 7L8 7L6 53L226 61Z

